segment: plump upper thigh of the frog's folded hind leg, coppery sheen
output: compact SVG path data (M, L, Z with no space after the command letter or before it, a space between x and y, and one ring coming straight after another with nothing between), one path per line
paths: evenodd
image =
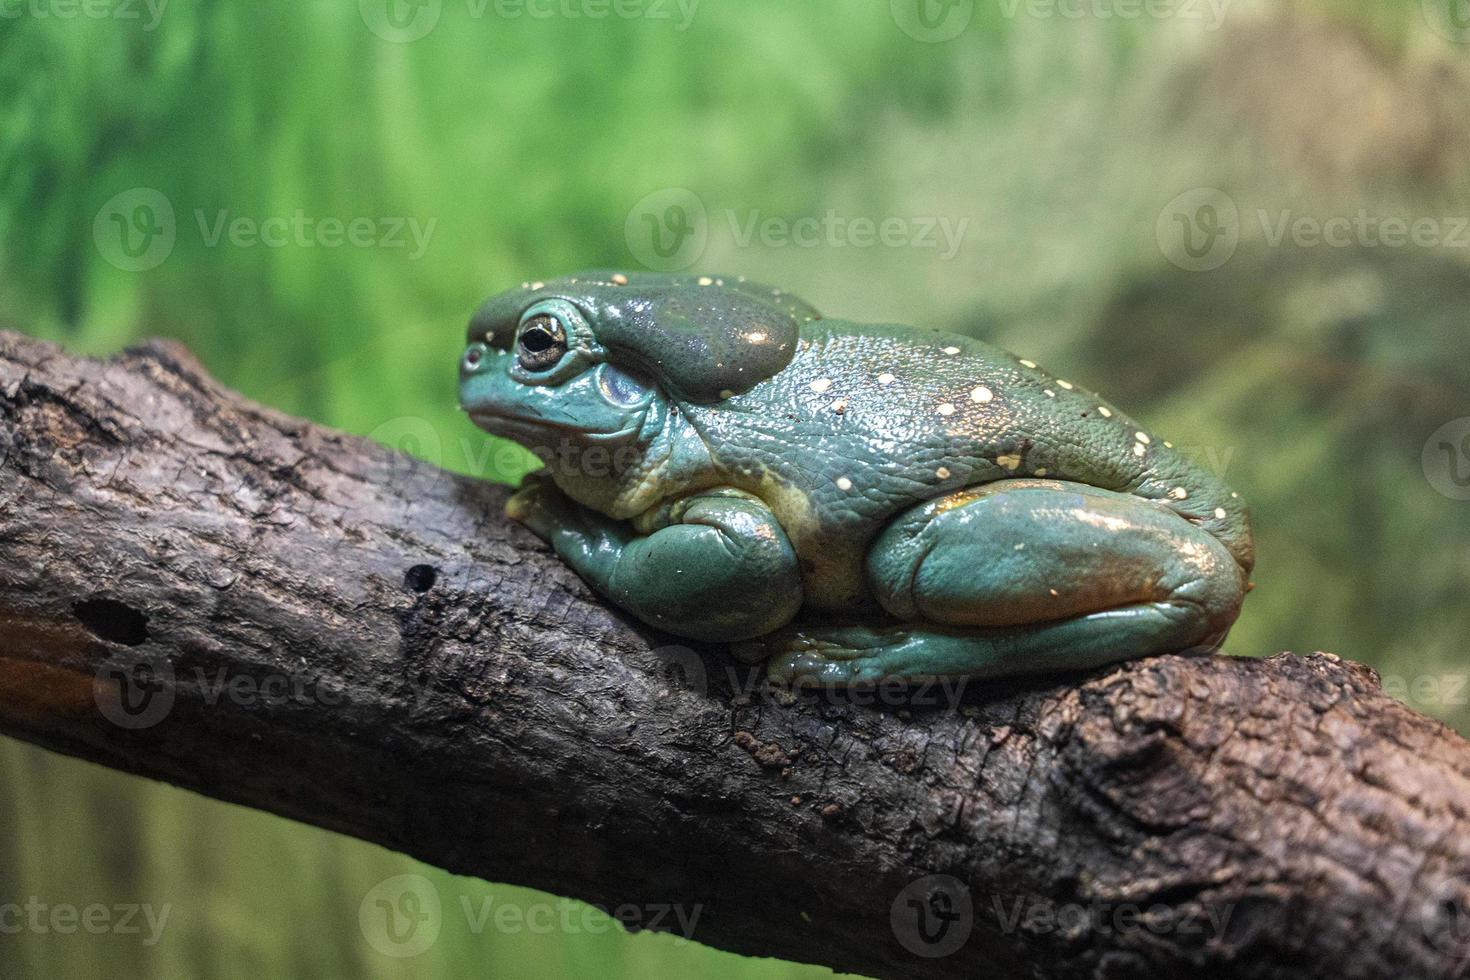
M1001 480L914 507L879 535L867 574L894 616L945 626L1163 602L1223 630L1245 585L1225 545L1167 507L1060 480Z

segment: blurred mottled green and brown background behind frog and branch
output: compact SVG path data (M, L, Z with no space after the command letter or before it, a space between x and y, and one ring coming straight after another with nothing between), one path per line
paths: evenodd
M476 301L526 279L745 273L973 332L1252 504L1232 652L1361 660L1470 730L1464 0L0 15L0 325L98 354L175 336L260 401L492 479L523 457L457 416L454 363ZM357 920L401 873L447 909L415 958ZM0 902L31 898L169 918L154 945L0 934L3 977L825 973L581 924L476 933L462 898L554 899L6 741Z

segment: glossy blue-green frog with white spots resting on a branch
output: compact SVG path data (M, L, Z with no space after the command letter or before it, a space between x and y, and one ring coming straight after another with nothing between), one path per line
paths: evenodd
M744 276L501 291L459 401L542 461L513 520L637 620L781 685L1214 651L1250 588L1239 494L1082 385Z

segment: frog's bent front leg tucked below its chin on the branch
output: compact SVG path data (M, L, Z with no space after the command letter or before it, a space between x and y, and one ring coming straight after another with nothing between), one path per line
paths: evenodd
M548 482L531 482L506 510L598 592L679 636L741 641L785 626L801 607L786 532L748 495L710 491L681 500L648 535Z

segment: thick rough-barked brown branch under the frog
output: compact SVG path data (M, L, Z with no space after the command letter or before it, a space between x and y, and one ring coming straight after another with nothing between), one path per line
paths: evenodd
M1467 976L1470 746L1366 667L767 689L598 602L504 488L168 344L0 335L0 453L7 735L860 974ZM926 876L967 886L938 946Z

